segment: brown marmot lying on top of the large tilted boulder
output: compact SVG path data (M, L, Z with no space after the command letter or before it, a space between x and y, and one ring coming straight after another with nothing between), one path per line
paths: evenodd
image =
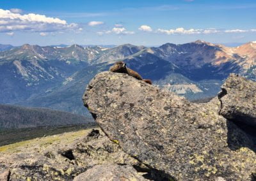
M113 66L111 66L111 68L109 68L109 71L117 72L117 73L127 73L128 75L133 76L138 80L142 80L144 82L152 84L151 80L143 79L138 72L127 68L125 62L122 62L122 61L116 62Z

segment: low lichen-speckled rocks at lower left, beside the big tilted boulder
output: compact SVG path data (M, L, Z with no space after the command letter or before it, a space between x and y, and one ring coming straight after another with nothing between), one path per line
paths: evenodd
M73 143L53 142L40 150L24 148L18 153L1 154L0 180L73 180L80 173L101 164L143 168L139 161L122 151L99 129L88 129L86 133ZM65 139L65 134L60 137ZM39 139L38 143L44 139L47 138Z

